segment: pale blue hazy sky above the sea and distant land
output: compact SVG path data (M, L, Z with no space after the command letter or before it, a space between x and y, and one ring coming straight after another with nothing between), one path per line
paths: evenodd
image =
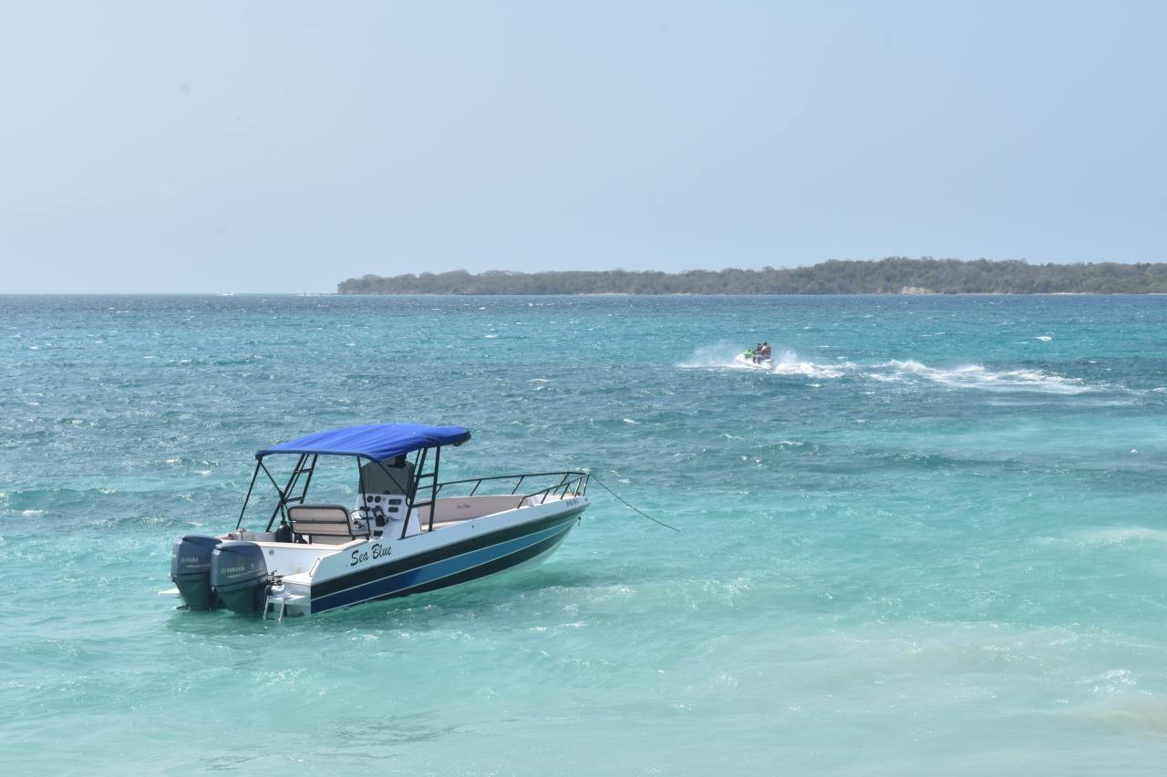
M54 2L0 292L1161 261L1167 2Z

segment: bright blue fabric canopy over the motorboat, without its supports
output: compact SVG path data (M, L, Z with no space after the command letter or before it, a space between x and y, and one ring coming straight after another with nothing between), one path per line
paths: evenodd
M376 461L385 461L422 448L460 446L469 439L469 430L461 426L370 424L316 432L299 440L281 442L278 446L257 450L256 459L278 453L294 453L366 456Z

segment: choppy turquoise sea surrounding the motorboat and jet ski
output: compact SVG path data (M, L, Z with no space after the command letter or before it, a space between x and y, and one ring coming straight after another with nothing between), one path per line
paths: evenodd
M735 368L759 341L771 370ZM1167 298L0 298L12 775L1161 775ZM254 450L589 468L543 566L176 611Z

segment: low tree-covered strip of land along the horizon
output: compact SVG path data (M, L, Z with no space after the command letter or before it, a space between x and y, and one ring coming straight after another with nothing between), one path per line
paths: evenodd
M683 273L489 271L364 275L340 294L1162 294L1167 264L1030 265L977 259L832 260L812 267Z

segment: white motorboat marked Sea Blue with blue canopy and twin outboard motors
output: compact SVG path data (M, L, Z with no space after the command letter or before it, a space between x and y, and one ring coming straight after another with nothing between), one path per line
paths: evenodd
M460 426L375 424L258 450L235 530L175 542L161 595L281 620L541 561L588 506L588 474L440 481L442 452L469 439Z

